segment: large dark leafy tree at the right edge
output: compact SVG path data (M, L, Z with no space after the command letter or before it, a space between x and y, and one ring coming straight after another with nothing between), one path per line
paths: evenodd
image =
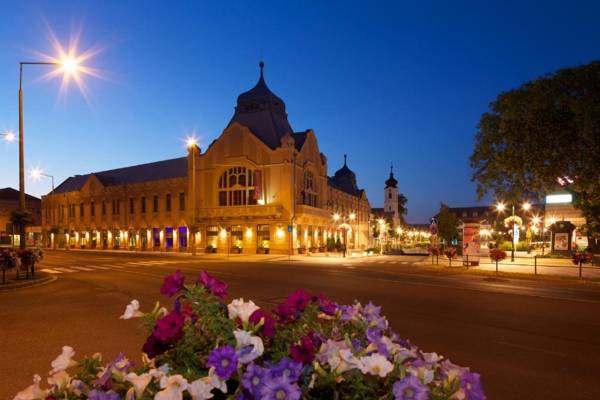
M539 199L563 186L598 246L600 61L501 93L479 120L470 164L479 198Z

